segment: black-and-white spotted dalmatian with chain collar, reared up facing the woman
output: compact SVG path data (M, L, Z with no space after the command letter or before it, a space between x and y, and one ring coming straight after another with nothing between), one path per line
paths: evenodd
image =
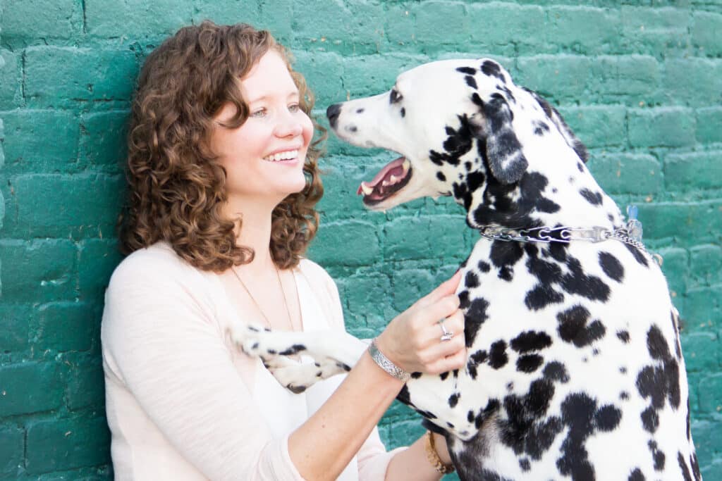
M479 240L457 294L468 361L399 400L443 433L461 480L700 480L677 311L657 262L586 167L561 115L490 59L427 63L327 111L399 154L371 210L452 196ZM349 369L351 336L243 330L289 389ZM299 366L284 354L305 352Z

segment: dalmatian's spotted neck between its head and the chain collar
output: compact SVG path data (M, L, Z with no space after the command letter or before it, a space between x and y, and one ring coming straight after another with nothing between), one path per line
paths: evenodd
M482 156L483 141L461 158ZM518 182L504 185L483 162L478 172L464 172L466 182L454 189L456 202L466 208L466 222L473 229L486 226L530 229L541 226L614 229L624 224L614 200L604 193L586 165L572 149L557 150L554 159L544 158L549 149L527 143L524 154L529 168Z

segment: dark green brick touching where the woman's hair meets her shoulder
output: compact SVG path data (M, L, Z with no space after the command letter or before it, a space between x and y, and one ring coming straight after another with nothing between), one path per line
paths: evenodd
M78 250L80 299L102 302L110 275L123 258L118 239L86 239L79 243Z

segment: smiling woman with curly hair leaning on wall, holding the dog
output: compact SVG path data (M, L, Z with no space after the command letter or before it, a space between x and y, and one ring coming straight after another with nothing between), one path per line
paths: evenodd
M186 27L147 58L121 231L132 253L103 313L116 479L435 480L449 467L440 436L386 453L375 425L404 371L463 365L458 275L393 319L343 381L304 394L227 335L232 319L344 328L334 282L301 257L323 192L312 102L284 48L248 25Z

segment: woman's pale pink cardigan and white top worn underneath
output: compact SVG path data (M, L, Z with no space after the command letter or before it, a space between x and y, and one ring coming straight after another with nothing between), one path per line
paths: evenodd
M293 274L303 330L343 329L328 273L302 260ZM217 274L168 244L118 265L101 328L116 480L303 480L288 436L343 376L287 392L230 342L226 327L237 315ZM393 454L374 429L339 480L383 480Z

